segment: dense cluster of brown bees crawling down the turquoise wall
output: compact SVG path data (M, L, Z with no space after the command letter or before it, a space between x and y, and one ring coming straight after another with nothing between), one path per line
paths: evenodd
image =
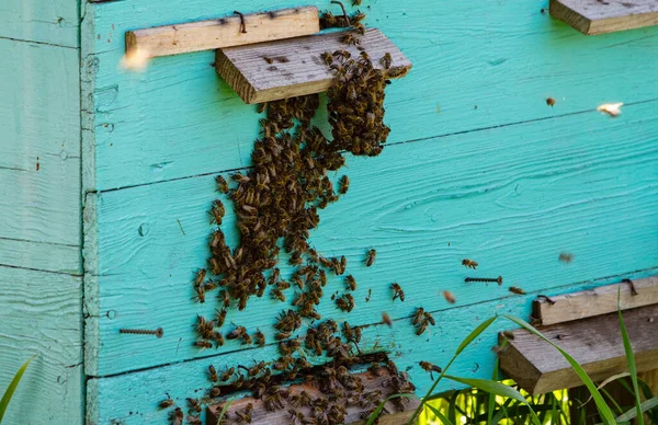
M371 58L360 47L360 35L365 32L364 18L361 12L348 15L344 8L342 16L327 12L321 18L322 27L351 27L352 31L341 41L359 46L361 51L358 57L352 57L344 49L322 55L321 59L334 76L327 92L331 138L311 124L319 107L317 94L260 104L258 112L265 112L266 117L260 120L262 137L256 140L251 153L253 168L245 174L232 174L231 182L223 176L216 177L217 191L227 194L232 202L240 242L232 250L227 245L219 228L225 207L215 199L211 214L217 228L209 241L208 267L197 272L193 287L198 302L205 302L208 292L218 290L219 306L214 318L197 317L195 330L198 337L194 345L208 349L224 345L227 338L245 345L265 346L268 342L260 330L249 334L243 326L234 325L228 332L223 331L223 326L230 306L237 305L241 311L251 297L268 296L290 302L273 324L281 357L271 363L260 361L251 367L240 365L223 371L211 365L208 378L212 386L206 397L188 399L188 415L183 413L184 409L172 410L172 423L180 424L185 420L201 423L198 415L203 404L234 391L247 390L253 398L262 399L269 411L288 409L291 423L340 424L344 422L347 406L360 405L373 412L386 398L382 391L364 391L361 379L352 372L355 365L365 361L387 365L392 374L387 386L393 393L413 391L407 375L400 374L385 355L361 355L360 328L351 326L347 321L342 325L332 319L321 321L316 309L325 295L328 275L343 276L348 267L345 256L326 257L307 241L309 231L320 222L319 211L337 202L339 195L345 194L350 187L347 175L340 177L338 187L334 187L328 173L344 165L347 152L370 157L382 152L390 131L384 124L384 89L389 78L407 71L394 67L389 54ZM374 60L379 66L375 66ZM290 264L296 266L287 279L276 267L281 249L288 253ZM375 257L374 249L366 250L365 265L374 265ZM334 294L331 300L338 309L351 312L355 308L352 292L356 289L356 280L352 275L341 278L344 291ZM292 297L286 294L291 288L294 288ZM405 300L398 284L394 284L392 292L394 300ZM295 337L303 320L308 320L310 326L305 336ZM390 319L384 322L392 324ZM424 330L428 324L433 324L433 319L424 313L420 326ZM329 363L314 367L304 353L326 356ZM293 397L281 386L307 376L315 377L326 397ZM405 407L405 400L397 399L400 410ZM167 399L160 407L173 404L171 399ZM232 412L230 417L225 415L224 421L250 423L251 414L252 406L247 406Z

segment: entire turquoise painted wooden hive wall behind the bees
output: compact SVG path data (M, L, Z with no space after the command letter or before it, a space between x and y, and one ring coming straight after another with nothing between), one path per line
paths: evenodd
M326 302L324 317L372 324L387 311L394 328L364 329L362 346L388 349L423 390L418 360L443 365L487 318L527 317L536 294L657 273L658 27L587 37L552 20L547 1L363 3L367 23L413 69L387 89L384 153L348 158L350 192L311 234L321 252L348 256L360 285L352 313ZM206 388L208 364L275 356L237 344L193 349L194 317L215 306L189 301L207 255L213 179L250 165L259 116L216 76L212 51L158 58L141 74L117 64L126 31L222 16L235 4L35 4L11 0L0 12L9 23L0 51L13 59L0 79L2 99L10 93L0 105L9 128L0 137L0 388L42 353L9 423L81 423L83 410L89 424L164 423L157 402ZM298 4L249 0L240 10ZM625 103L617 118L594 111L616 101ZM223 229L235 241L234 222L229 213ZM377 263L366 268L359 263L371 246ZM575 262L559 263L561 251ZM481 275L503 275L504 286L465 285L463 257ZM390 301L392 282L404 286L404 303ZM511 285L527 296L512 296ZM418 337L409 317L421 306L438 323ZM281 308L253 299L227 321L271 340ZM117 332L158 326L161 340ZM509 326L497 322L454 374L489 377L495 331ZM39 388L46 399L34 409Z

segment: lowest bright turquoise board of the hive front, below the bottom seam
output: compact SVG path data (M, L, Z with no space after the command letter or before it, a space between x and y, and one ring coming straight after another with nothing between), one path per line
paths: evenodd
M587 283L582 286L594 284L601 283ZM570 285L557 288L556 291L569 291L582 286ZM416 393L421 395L432 382L430 375L418 365L418 358L445 366L462 340L478 324L494 314L518 314L525 318L530 314L533 298L534 296L527 295L480 305L457 303L455 308L435 312L436 325L422 337L416 336L410 319L396 321L390 329L386 325L367 326L363 329L361 346L364 348L376 345L375 351L389 352L398 369L409 372L417 387ZM409 310L411 306L417 305L410 303ZM490 348L497 344L497 332L510 326L513 324L503 319L496 321L455 360L449 369L451 375L484 379L490 377L495 364L495 355ZM125 425L167 424L168 411L158 410L158 403L169 394L183 407L185 398L204 397L211 388L207 379L208 365L213 364L222 370L226 366L254 360L270 361L275 353L275 346L268 345L264 349L232 352L113 377L92 378L88 381L87 423L95 425L115 421ZM436 387L436 392L457 388L463 386L443 380ZM205 418L205 412L203 416Z

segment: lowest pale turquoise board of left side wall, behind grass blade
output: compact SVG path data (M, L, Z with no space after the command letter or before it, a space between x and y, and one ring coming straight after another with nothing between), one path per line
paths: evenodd
M81 424L80 277L0 266L0 389L23 376L3 424Z

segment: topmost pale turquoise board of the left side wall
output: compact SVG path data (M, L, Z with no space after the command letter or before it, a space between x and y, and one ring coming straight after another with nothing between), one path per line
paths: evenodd
M78 2L70 0L3 0L0 38L77 48Z

